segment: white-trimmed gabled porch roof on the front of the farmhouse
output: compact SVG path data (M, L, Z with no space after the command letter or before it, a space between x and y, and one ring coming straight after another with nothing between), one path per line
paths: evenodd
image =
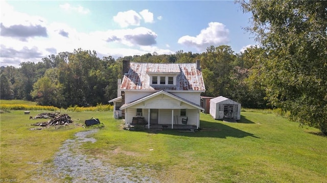
M155 96L157 96L157 95L160 95L160 94L164 94L164 95L167 95L167 96L169 96L169 97L172 97L172 98L174 98L174 99L176 99L176 100L179 100L179 101L185 102L185 103L189 104L190 106L193 106L194 108L197 108L197 109L199 109L199 110L204 110L204 109L203 109L201 106L199 106L198 104L193 103L193 102L191 102L191 101L189 101L189 100L186 100L186 99L184 99L184 98L181 98L181 97L179 97L179 96L177 96L177 95L174 95L174 94L172 94L172 93L169 93L169 92L167 92L167 91L165 91L165 90L161 90L161 91L158 91L158 92L152 93L152 94L150 94L150 95L147 95L147 96L145 96L145 97L143 97L143 98L139 98L139 99L137 99L137 100L134 100L134 101L132 101L132 102L125 103L125 104L123 104L123 106L120 108L120 110L127 109L127 108L129 108L129 107L134 106L134 105L137 104L137 103L140 103L140 102L146 101L146 100L148 100L148 99L150 99L150 98L152 98L152 97L155 97Z

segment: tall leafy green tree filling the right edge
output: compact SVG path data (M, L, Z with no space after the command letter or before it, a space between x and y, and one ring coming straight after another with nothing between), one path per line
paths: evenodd
M241 1L252 14L270 103L327 135L327 2Z

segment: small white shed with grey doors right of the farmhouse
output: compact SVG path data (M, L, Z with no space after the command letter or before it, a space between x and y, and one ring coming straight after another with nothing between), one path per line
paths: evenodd
M219 96L210 100L210 115L214 119L241 119L241 103Z

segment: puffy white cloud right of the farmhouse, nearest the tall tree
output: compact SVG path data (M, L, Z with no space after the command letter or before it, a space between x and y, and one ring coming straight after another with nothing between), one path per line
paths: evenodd
M199 51L205 50L208 46L218 46L229 42L229 30L219 22L210 22L208 27L201 30L196 37L183 36L178 39L179 44L196 47Z

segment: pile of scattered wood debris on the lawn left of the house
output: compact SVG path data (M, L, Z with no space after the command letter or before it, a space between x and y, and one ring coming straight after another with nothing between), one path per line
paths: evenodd
M50 119L48 122L31 124L32 126L68 125L69 123L73 123L72 118L67 114L60 115L59 113L48 113L48 114L42 113L37 116L40 116L39 118L53 118L53 119ZM37 118L37 116L35 118Z

